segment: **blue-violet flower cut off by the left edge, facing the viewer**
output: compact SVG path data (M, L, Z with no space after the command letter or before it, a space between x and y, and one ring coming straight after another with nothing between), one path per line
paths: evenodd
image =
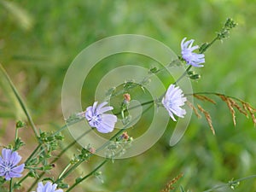
M25 164L17 166L20 160L21 157L16 151L3 148L2 157L0 156L0 176L4 176L6 180L21 177L20 173L23 172Z

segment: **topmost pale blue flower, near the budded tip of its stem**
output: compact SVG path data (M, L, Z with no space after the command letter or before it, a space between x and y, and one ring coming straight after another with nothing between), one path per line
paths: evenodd
M192 47L195 40L191 39L185 42L186 39L187 38L183 38L181 43L183 60L186 61L188 65L192 65L194 67L203 67L203 65L200 64L205 62L205 55L193 53L193 51L198 49L199 46L195 45Z

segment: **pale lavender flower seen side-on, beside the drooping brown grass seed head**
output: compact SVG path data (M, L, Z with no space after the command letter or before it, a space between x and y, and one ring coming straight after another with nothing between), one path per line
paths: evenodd
M187 98L184 97L183 91L178 86L175 87L174 84L171 84L166 92L166 96L162 99L162 104L168 111L171 118L176 121L173 114L183 118L186 111L180 107L183 106L186 101Z

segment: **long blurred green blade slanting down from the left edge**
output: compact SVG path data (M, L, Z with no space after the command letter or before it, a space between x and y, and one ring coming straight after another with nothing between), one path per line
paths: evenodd
M32 117L31 117L30 113L28 112L28 109L26 108L26 104L25 104L25 102L23 102L19 92L15 88L15 84L13 84L12 80L9 78L8 73L5 71L5 69L3 68L1 63L0 63L0 71L3 73L3 76L8 81L8 83L9 83L11 89L13 90L18 102L20 103L21 108L23 109L24 113L26 114L26 118L27 118L29 124L32 126L32 130L33 130L34 134L38 138L38 130L37 130L36 125L34 124L34 122L32 120Z

